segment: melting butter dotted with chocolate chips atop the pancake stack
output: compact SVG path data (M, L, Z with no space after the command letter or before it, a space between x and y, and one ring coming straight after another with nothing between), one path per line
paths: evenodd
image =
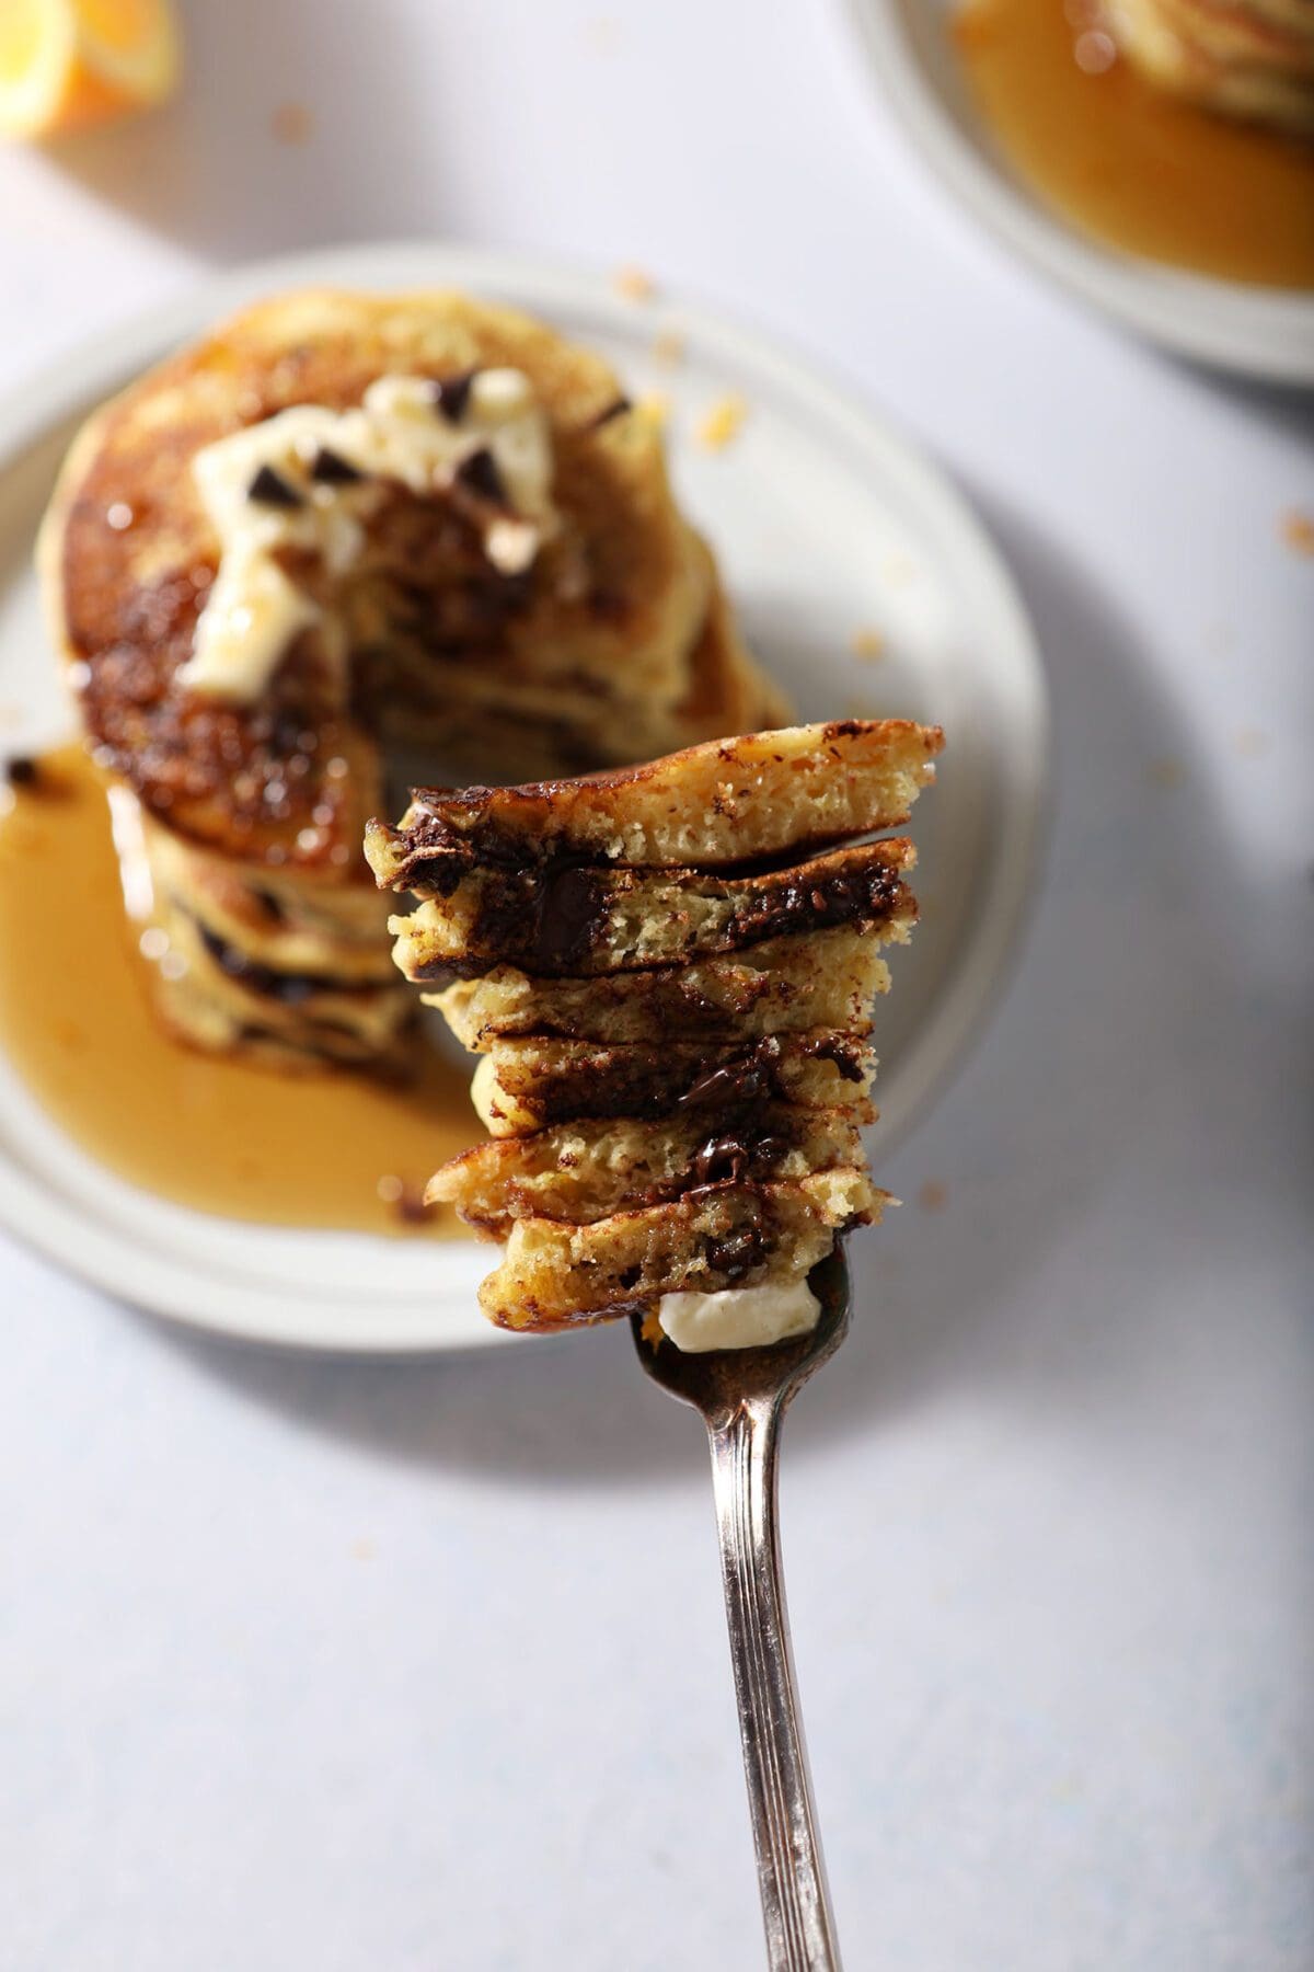
M323 452L351 473L315 477ZM378 377L351 410L294 404L197 452L191 469L221 560L177 682L252 704L294 637L315 627L331 663L345 663L341 631L284 574L278 554L309 552L331 578L345 578L364 552L384 481L437 493L479 452L506 493L506 509L483 528L485 554L500 574L520 576L558 527L552 436L522 371L477 371L459 410L443 408L426 377ZM276 499L252 499L262 471L276 475Z

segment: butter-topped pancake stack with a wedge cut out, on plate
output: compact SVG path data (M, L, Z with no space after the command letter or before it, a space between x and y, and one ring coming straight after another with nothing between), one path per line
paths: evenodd
M502 454L475 416L489 381L518 392ZM370 426L380 387L402 422ZM508 471L526 432L548 461L534 515ZM449 469L408 473L402 444L394 471L396 434ZM656 426L597 357L463 296L250 308L93 416L39 562L160 1008L205 1047L402 1049L361 860L384 759L569 773L788 716Z

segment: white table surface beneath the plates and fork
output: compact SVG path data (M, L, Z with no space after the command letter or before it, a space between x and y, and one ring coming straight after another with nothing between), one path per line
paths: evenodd
M812 351L985 513L1056 834L786 1444L839 1927L853 1968L1310 1966L1308 400L973 235L839 0L187 26L175 108L0 156L0 385L262 252L528 246ZM624 1333L266 1359L8 1244L0 1311L6 1968L760 1964L699 1428Z

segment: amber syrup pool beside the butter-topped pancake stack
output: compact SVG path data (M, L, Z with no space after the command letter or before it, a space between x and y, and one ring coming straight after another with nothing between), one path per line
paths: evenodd
M0 1049L85 1152L229 1219L465 1234L447 1209L410 1209L481 1134L459 1067L426 1053L398 1089L335 1069L280 1075L173 1041L124 919L95 767L61 747L12 797L0 818Z

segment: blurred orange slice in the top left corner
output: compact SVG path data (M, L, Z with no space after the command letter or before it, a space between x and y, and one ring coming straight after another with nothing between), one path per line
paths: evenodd
M171 0L0 0L0 132L51 136L162 103Z

